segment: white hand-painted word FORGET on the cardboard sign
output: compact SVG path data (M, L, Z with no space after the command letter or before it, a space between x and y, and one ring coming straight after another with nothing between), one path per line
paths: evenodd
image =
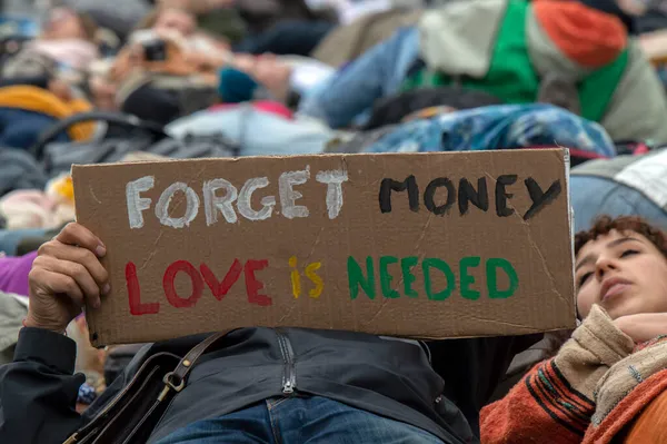
M303 195L295 189L295 186L303 185L310 179L310 167L298 171L282 172L278 178L278 193L280 197L280 213L288 219L296 217L308 217L310 211L303 205L297 205L297 200ZM329 219L335 219L342 208L342 184L348 180L347 171L330 170L319 171L315 179L327 186L326 204ZM150 209L152 200L141 197L155 187L153 176L145 176L132 180L126 186L126 201L128 207L128 218L130 228L138 229L143 227L143 211ZM203 213L206 215L206 225L211 226L218 221L218 214L225 217L229 224L238 221L238 214L248 220L265 220L271 217L273 208L277 205L275 196L265 196L261 198L261 208L252 208L252 195L262 188L267 188L270 181L267 177L253 177L243 184L239 190L229 180L217 178L206 180L201 187L203 198ZM186 208L185 214L173 217L169 213L169 207L173 196L178 193L185 194ZM236 203L236 210L233 204ZM187 184L177 181L167 187L155 207L155 214L160 224L172 227L183 228L189 226L197 218L200 209L200 198Z

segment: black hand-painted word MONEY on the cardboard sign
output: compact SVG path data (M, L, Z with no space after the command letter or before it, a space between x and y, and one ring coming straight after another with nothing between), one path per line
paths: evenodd
M498 217L509 217L515 214L515 209L508 205L509 199L514 197L508 191L508 187L516 184L518 179L517 175L500 175L496 178L495 187L495 203L496 203L496 215ZM524 220L528 220L537 215L544 207L556 200L561 193L560 180L555 180L547 190L542 190L542 187L531 177L524 180L524 186L528 191L528 196L532 201L532 205L522 215ZM436 203L436 194L441 190L440 194L445 194L446 197L441 197ZM382 179L380 184L380 211L391 213L391 193L392 191L407 191L408 193L408 205L411 211L419 211L419 186L415 176L408 176L404 181L397 181L394 179ZM476 206L482 211L489 209L489 191L487 186L487 178L480 177L477 179L477 187L472 185L468 179L461 178L458 182L458 190L454 181L447 177L438 177L431 180L424 190L424 206L427 210L437 216L445 216L449 213L451 207L458 200L458 210L461 216L468 213L470 204Z

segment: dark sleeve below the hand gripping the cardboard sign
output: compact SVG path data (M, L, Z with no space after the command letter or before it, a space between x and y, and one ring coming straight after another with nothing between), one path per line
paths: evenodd
M61 444L80 426L76 354L63 335L21 329L13 362L0 367L0 443Z

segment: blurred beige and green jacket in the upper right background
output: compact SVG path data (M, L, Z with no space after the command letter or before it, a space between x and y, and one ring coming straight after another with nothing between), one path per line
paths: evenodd
M600 122L613 139L667 142L664 88L627 36L614 60L589 69L565 56L540 26L532 4L522 0L450 3L427 11L419 30L426 67L406 80L405 89L456 79L507 103L528 103L538 101L544 80L555 76L576 91L576 111Z

